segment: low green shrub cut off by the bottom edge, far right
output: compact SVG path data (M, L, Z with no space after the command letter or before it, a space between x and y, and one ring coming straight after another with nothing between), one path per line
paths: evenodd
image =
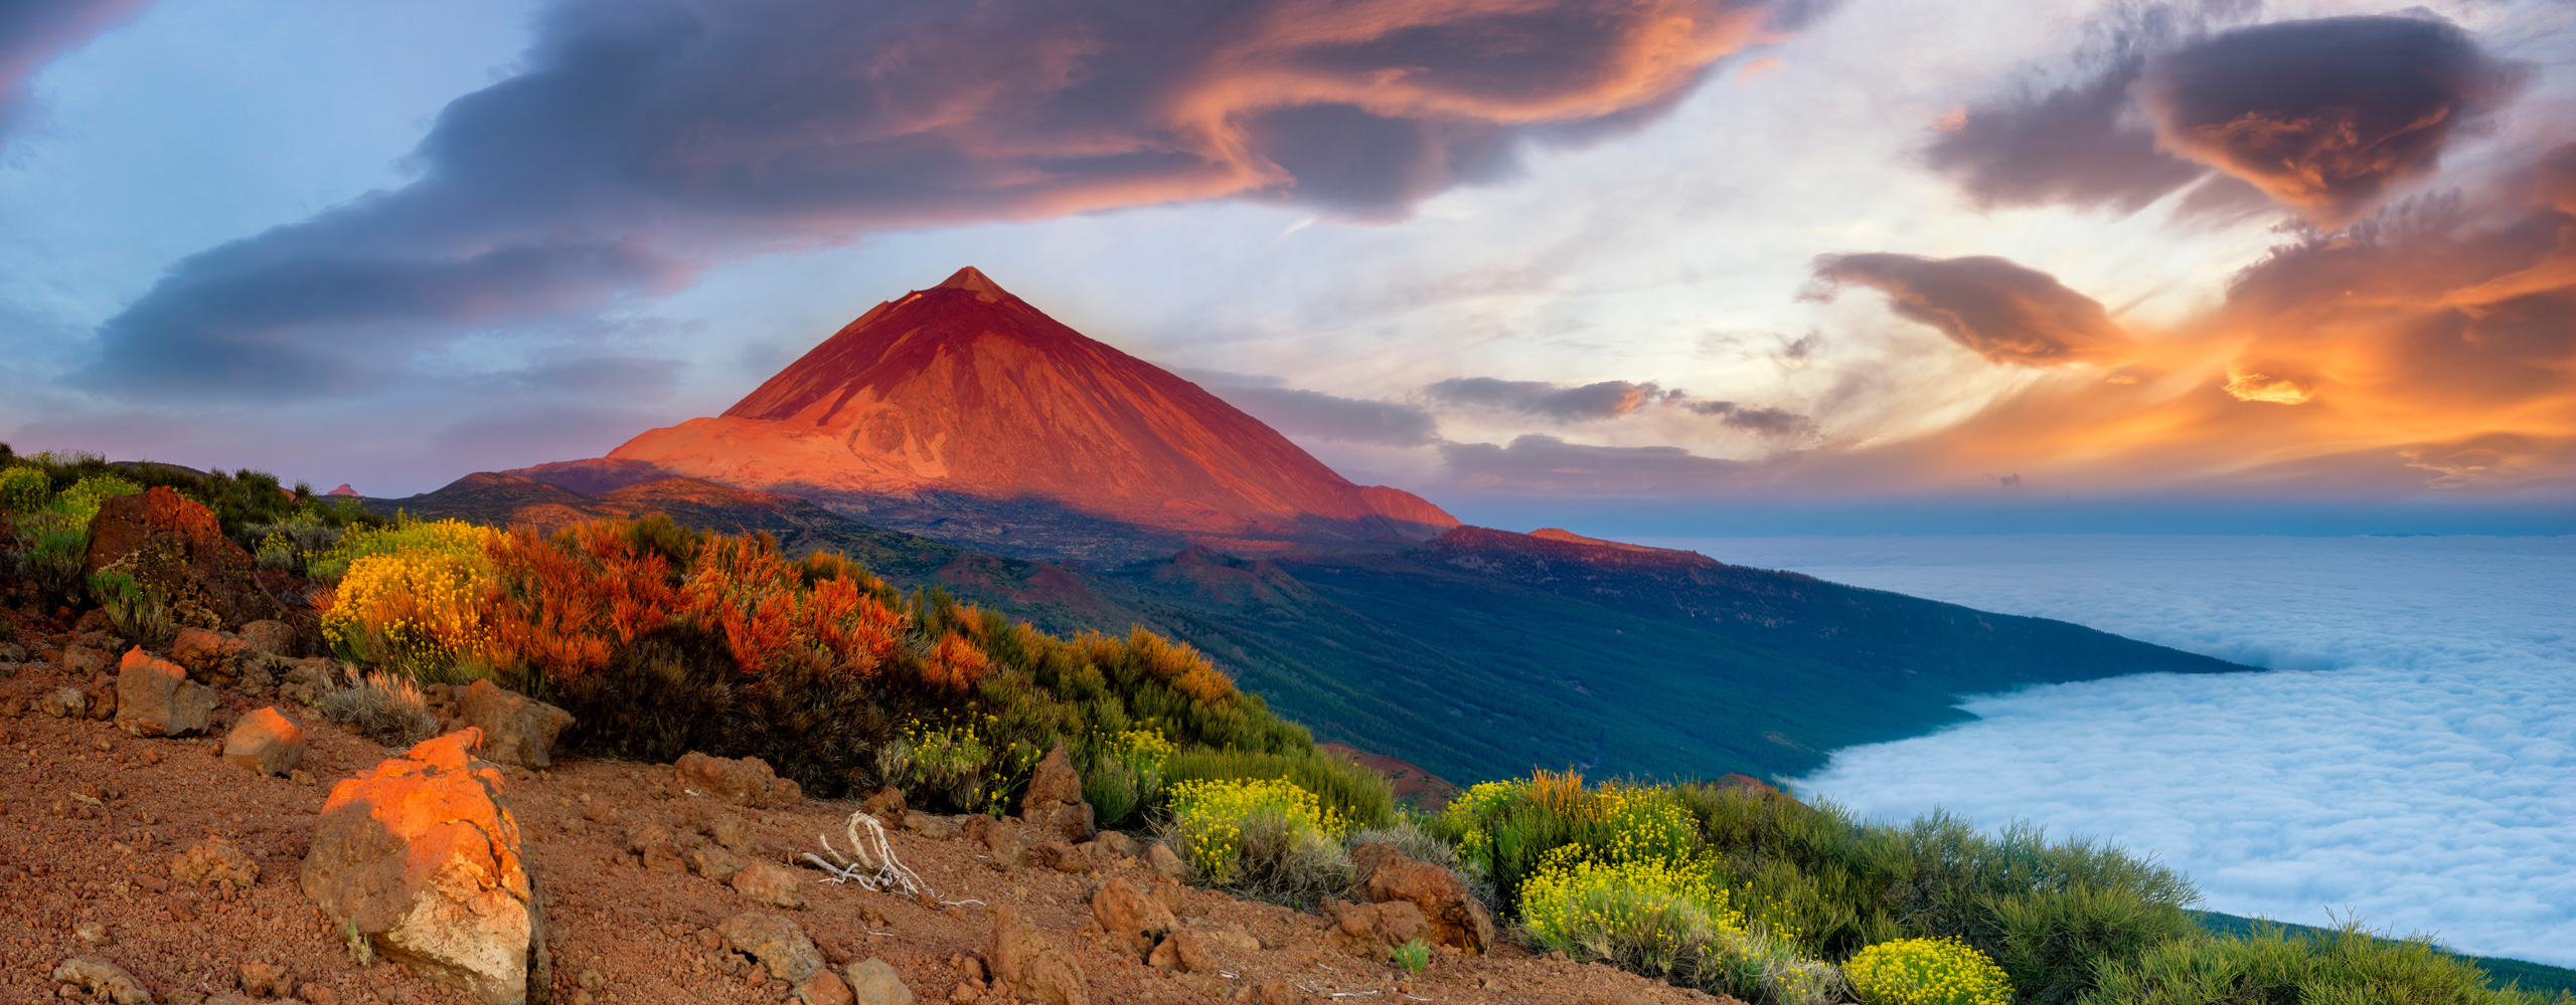
M2476 964L2424 938L2380 938L2357 920L2324 936L2259 925L2251 938L2174 938L2107 961L2084 1005L2537 1005L2494 990Z

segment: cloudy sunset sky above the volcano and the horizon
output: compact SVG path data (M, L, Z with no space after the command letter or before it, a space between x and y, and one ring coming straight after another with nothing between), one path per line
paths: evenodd
M18 0L0 440L402 496L976 265L1471 522L2566 532L2571 57L2553 0Z

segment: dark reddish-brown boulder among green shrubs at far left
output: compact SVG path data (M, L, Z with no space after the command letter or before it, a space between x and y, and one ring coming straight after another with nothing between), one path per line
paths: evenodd
M222 630L276 619L278 601L260 589L258 565L224 537L214 511L170 488L113 496L90 519L82 573L126 573L157 591L180 627Z

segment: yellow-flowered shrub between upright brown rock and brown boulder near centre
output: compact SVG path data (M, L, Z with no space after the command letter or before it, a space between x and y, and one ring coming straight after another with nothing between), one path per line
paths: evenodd
M1316 905L1350 884L1342 817L1291 781L1177 781L1170 807L1167 840L1203 887Z

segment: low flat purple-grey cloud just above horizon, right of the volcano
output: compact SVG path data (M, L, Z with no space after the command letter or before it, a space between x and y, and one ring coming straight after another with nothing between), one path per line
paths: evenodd
M1445 442L1440 460L1463 491L1564 496L1687 496L1736 483L1749 470L1682 447L1595 447L1540 434L1510 445Z

